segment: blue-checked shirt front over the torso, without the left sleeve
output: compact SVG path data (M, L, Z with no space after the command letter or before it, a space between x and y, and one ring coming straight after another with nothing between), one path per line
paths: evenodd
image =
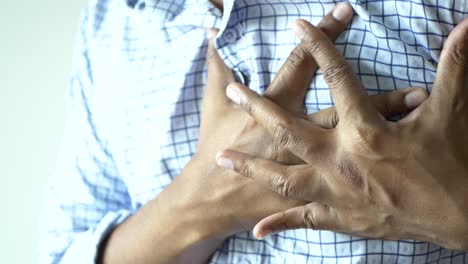
M99 1L88 43L96 131L135 210L170 184L196 152L206 81L202 27L221 28L221 56L240 81L262 92L298 43L292 23L303 18L316 24L339 1L225 1L222 19L205 1L146 2L130 9ZM336 46L370 93L430 89L444 39L468 15L465 1L350 2L357 16ZM320 72L306 106L309 112L332 106ZM424 242L293 230L264 240L235 235L212 263L468 263L466 258Z

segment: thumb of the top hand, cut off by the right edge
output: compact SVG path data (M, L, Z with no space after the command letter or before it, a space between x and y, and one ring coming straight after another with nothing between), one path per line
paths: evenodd
M442 50L431 100L437 111L468 94L468 18L450 33Z

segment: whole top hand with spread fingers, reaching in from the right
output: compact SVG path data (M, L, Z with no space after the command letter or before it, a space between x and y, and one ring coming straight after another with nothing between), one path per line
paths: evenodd
M324 73L339 122L324 129L240 84L228 87L233 101L305 162L289 166L232 150L218 155L221 166L309 202L266 217L254 234L311 228L468 251L468 19L445 44L428 100L398 122L376 111L320 30L299 21L296 33L304 57Z

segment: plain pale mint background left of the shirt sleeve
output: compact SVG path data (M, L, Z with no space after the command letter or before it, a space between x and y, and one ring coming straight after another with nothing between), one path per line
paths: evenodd
M0 0L0 256L36 263L37 217L64 129L87 0Z

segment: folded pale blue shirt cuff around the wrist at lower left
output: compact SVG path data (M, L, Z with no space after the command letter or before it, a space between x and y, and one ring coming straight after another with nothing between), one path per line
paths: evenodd
M131 213L126 210L108 213L94 228L77 234L60 263L97 263L100 243L116 226L124 222Z

